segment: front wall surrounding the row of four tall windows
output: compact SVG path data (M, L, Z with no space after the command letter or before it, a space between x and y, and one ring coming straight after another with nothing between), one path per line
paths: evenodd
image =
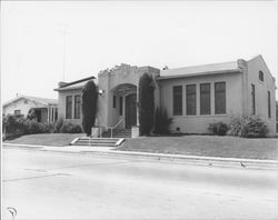
M226 82L226 114L215 114L215 82ZM180 128L183 133L207 133L208 126L212 122L228 123L232 117L242 116L242 87L241 73L227 73L214 76L199 76L190 78L160 80L161 106L172 118L171 131ZM200 116L200 83L210 83L211 114ZM186 116L186 86L196 84L196 116ZM172 114L172 87L182 86L182 116Z

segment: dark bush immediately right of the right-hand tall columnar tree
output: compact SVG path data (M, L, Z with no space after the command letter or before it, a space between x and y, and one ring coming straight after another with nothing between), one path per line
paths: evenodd
M172 122L171 118L168 118L167 111L162 108L156 110L155 118L155 133L168 134L170 133L169 127Z

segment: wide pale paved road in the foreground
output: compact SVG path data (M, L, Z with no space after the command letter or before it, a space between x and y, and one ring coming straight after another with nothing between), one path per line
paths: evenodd
M2 150L2 218L278 219L274 170Z

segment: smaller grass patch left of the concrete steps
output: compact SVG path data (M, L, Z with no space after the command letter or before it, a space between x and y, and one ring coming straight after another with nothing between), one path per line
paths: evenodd
M4 143L23 143L23 144L38 144L38 146L69 146L69 143L85 133L40 133L21 136L13 140L4 141Z

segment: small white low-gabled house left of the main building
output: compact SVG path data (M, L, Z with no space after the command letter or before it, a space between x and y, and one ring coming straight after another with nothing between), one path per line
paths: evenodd
M54 122L58 118L57 102L56 99L18 96L3 104L2 113L26 117L33 110L38 122Z

